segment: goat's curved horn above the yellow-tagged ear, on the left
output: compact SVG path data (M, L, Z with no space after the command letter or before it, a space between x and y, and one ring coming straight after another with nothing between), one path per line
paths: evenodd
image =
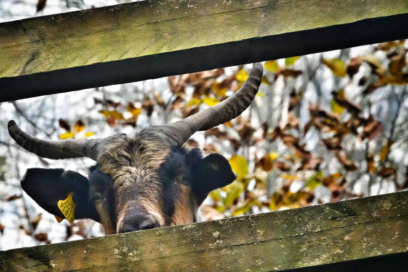
M11 138L22 146L22 148L47 159L88 157L96 161L103 143L108 142L107 139L115 137L58 141L43 140L22 131L14 120L9 121L8 129Z

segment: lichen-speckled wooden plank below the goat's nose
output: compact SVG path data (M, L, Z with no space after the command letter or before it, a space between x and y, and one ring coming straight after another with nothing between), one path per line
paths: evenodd
M8 250L0 270L398 271L407 234L408 191Z

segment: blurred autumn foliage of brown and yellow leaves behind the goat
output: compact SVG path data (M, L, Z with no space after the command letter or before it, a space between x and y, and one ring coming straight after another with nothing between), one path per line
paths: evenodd
M66 0L49 7L50 2L3 0L0 20L118 3ZM408 42L399 40L264 62L262 85L250 108L186 143L223 154L238 174L232 184L211 192L202 206L204 218L406 190L407 51ZM250 68L0 104L0 249L103 235L90 220L58 224L19 186L30 167L64 167L86 175L93 162L52 161L22 150L7 133L9 119L45 139L132 135L219 103L237 91Z

